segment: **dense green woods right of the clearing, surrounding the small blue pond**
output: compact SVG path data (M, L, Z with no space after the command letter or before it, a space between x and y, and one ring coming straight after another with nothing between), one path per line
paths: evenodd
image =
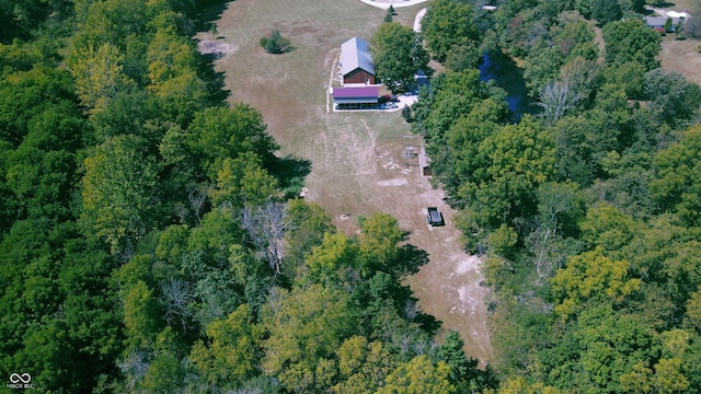
M413 129L485 255L501 390L701 392L701 90L659 68L642 1L472 5L424 19L449 70ZM481 54L522 73L530 114Z

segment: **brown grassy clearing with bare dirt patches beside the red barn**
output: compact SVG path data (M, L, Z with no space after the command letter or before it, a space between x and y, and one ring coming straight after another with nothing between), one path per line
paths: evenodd
M394 21L413 26L426 3L398 9ZM230 50L215 62L226 76L231 102L261 111L281 154L312 163L307 199L319 202L346 233L357 231L359 215L387 212L411 232L409 242L430 262L406 278L422 311L457 329L466 352L482 364L492 357L479 260L466 254L453 211L441 190L418 174L417 159L404 159L404 146L422 143L400 112L326 112L330 72L346 39L369 39L386 11L357 0L237 0L217 21L218 42ZM268 55L258 40L276 28L295 49ZM197 38L214 40L210 33ZM438 207L446 227L426 224L426 207Z

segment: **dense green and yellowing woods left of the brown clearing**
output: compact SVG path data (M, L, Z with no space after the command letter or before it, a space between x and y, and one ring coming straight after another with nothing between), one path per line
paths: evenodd
M211 5L0 3L3 389L496 387L457 333L434 340L395 219L347 236L290 198L303 162L191 39Z

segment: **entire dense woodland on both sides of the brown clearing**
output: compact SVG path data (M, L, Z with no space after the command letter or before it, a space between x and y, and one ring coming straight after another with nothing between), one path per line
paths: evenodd
M659 69L642 1L436 0L424 19L446 71L412 128L483 255L485 369L457 333L434 340L400 282L427 256L395 219L349 236L294 198L303 163L191 39L215 2L0 2L0 375L51 393L701 392L701 89ZM529 113L481 79L487 56Z

